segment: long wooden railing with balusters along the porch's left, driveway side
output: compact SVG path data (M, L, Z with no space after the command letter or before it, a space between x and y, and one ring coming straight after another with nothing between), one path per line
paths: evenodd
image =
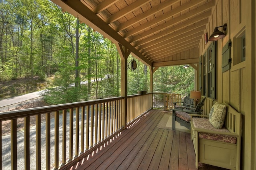
M127 97L125 123L123 102L117 97L0 113L0 131L2 123L11 127L0 135L0 169L64 167L152 109L152 94Z

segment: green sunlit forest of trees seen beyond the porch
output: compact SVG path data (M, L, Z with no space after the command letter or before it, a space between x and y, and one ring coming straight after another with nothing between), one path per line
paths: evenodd
M130 68L136 60L137 69ZM149 90L148 67L128 58L128 95ZM48 104L120 96L120 56L114 43L49 0L0 0L0 81L39 76L54 81ZM194 69L161 67L154 92L194 90Z

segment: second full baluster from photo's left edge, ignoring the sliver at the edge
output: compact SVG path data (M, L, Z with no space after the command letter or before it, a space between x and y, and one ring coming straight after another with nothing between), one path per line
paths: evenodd
M30 128L29 128L29 117L24 118L24 163L25 163L25 170L30 169Z

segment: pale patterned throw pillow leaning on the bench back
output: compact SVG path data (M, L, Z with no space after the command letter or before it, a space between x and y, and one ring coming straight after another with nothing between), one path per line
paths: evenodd
M224 104L219 104L216 102L209 113L209 121L213 125L213 127L217 129L221 129L226 116L226 106Z

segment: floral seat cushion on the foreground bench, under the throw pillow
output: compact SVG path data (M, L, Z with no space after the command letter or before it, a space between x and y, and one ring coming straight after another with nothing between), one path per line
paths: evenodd
M192 120L193 120L192 121L193 125L196 128L208 129L208 130L216 131L216 132L229 132L228 129L226 129L225 127L222 127L222 129L216 129L215 127L212 126L212 124L209 122L208 119L193 117ZM236 137L230 136L230 135L219 135L219 134L214 134L214 133L200 132L200 133L198 133L198 137L201 139L208 139L208 140L236 144Z

